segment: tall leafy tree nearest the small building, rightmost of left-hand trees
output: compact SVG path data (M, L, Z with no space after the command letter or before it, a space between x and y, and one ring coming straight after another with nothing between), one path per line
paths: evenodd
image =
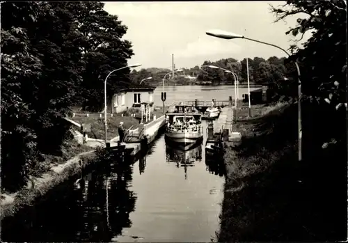
M82 34L79 52L86 68L81 84L84 108L96 111L104 104L104 80L112 70L127 66L133 53L132 43L122 40L127 26L110 15L101 2L65 3L65 8L74 15L77 31ZM108 100L129 83L129 68L114 72L107 81Z

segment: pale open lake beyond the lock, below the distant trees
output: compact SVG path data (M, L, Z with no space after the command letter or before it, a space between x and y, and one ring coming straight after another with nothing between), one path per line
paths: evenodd
M255 91L258 88L250 88L250 91ZM161 105L162 87L157 87L154 93L155 105ZM172 102L190 101L190 100L228 100L229 96L235 98L235 86L165 86L164 92L167 93L166 104ZM242 95L248 93L248 88L239 88L239 100L242 100Z

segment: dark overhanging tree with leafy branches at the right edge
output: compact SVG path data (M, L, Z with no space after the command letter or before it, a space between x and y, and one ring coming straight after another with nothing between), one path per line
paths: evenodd
M278 8L271 6L277 17L276 22L297 13L306 15L298 18L296 26L292 26L286 33L293 36L301 34L301 38L296 41L301 40L304 33L312 33L303 48L292 46L289 61L297 60L300 65L303 104L310 102L312 107L303 114L311 113L308 119L317 116L316 128L313 123L306 128L306 119L303 119L303 130L321 131L320 135L313 138L313 143L318 146L324 143L324 147L327 147L329 141L347 142L347 134L342 132L346 129L347 117L346 8L346 3L342 0L287 1ZM296 79L294 72L292 77ZM313 113L315 109L319 114ZM322 132L322 127L325 127L325 132ZM314 136L318 133L311 134Z

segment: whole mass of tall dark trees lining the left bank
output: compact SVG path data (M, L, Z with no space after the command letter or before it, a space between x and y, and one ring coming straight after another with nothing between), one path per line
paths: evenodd
M134 53L127 26L102 2L1 3L1 186L26 182L43 154L59 154L63 118L104 106L104 79ZM111 75L109 95L129 83ZM110 98L110 97L109 97Z

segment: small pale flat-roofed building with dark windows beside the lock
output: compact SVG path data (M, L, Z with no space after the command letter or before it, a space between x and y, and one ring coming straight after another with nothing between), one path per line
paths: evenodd
M132 107L141 107L141 104L149 104L154 109L153 93L155 87L122 88L115 93L111 100L111 113L121 113Z

